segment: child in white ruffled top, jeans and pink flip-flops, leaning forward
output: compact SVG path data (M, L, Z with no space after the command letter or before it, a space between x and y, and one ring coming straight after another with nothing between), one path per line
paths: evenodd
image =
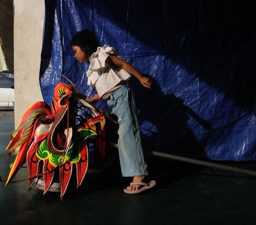
M98 47L98 40L92 31L77 32L71 40L75 58L81 63L90 61L87 71L87 85L95 87L97 95L87 101L107 101L107 112L117 118L118 151L123 177L133 177L130 186L124 189L127 194L137 194L156 185L142 182L148 175L147 163L141 144L141 131L137 119L135 102L131 90L125 86L132 74L146 88L151 87L149 78L142 76L132 65L119 58L119 53L108 45Z

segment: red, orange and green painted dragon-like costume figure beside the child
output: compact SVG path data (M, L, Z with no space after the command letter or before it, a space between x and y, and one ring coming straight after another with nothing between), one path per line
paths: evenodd
M77 188L85 177L89 162L88 137L94 139L94 146L100 146L101 156L105 157L105 119L106 112L87 102L73 82L71 85L60 82L55 86L51 107L44 102L31 105L11 132L6 151L10 154L18 148L18 154L5 185L12 182L27 162L28 178L24 180L28 180L29 189L36 181L43 181L44 194L57 184L54 182L57 174L54 176L54 173L59 170L57 179L62 199L73 165L76 165Z

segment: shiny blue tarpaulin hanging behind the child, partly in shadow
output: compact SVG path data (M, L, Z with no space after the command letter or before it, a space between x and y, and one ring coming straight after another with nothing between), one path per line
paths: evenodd
M146 151L255 160L253 1L45 0L40 84L44 101L65 74L89 97L88 64L70 40L89 28L153 79L132 78ZM100 101L103 109L105 102Z

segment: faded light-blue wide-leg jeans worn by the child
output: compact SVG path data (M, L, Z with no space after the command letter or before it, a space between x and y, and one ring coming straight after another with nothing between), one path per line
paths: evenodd
M116 118L118 151L123 177L148 175L141 143L141 131L131 90L122 86L107 99L107 111Z

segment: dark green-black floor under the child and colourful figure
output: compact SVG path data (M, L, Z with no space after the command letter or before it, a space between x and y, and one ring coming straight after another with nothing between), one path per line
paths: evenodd
M0 121L2 180L15 158L5 152L13 129L13 118ZM0 224L256 224L255 177L158 159L149 178L157 186L139 195L124 194L130 180L102 176L95 165L79 189L69 186L62 202L59 193L28 191L26 181L7 187L1 182ZM255 162L225 164L256 170ZM14 180L26 177L21 168Z

